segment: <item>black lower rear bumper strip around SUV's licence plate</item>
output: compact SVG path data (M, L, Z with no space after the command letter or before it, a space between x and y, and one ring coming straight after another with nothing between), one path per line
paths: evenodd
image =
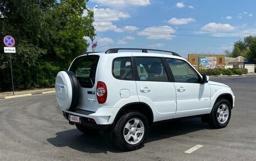
M74 116L79 116L77 114L73 114L72 113L68 113L68 112L63 112L63 117L66 118L68 121L69 121L69 115L72 114ZM88 127L88 128L92 128L92 129L95 129L95 130L102 130L102 131L110 131L112 129L112 124L105 124L105 125L100 125L100 124L97 124L96 122L93 123L90 121L91 118L89 117L82 117L82 116L79 116L80 117L80 125L83 125L85 127ZM74 125L74 123L76 122L70 122L70 124Z

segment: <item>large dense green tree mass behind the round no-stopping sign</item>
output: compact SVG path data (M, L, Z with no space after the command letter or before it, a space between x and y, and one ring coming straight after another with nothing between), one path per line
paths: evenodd
M49 87L88 48L84 36L95 35L93 12L84 0L0 0L0 39L12 35L15 88ZM84 11L88 11L83 16ZM10 57L0 42L0 91L11 89Z

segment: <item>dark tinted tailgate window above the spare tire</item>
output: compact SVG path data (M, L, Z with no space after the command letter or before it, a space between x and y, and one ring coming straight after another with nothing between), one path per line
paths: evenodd
M99 56L82 56L75 59L70 67L74 72L81 87L92 88L95 83L95 74Z

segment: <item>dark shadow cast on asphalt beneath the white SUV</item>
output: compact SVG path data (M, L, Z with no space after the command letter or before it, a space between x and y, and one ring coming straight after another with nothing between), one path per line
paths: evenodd
M148 142L189 134L190 132L205 129L212 128L208 125L208 123L201 122L200 118L154 123L154 125L150 128L150 133L145 144ZM111 151L112 153L125 152L115 146L114 141L111 140L110 132L100 131L96 134L85 135L77 129L72 129L57 132L56 135L56 137L49 138L47 141L57 147L68 146L69 148L79 150L84 153L107 154L107 151Z

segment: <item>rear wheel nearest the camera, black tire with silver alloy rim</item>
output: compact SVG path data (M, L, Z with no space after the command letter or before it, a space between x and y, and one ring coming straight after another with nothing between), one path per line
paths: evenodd
M118 119L114 127L116 145L131 151L143 146L149 131L147 117L140 112L129 112ZM125 137L126 136L126 137Z

